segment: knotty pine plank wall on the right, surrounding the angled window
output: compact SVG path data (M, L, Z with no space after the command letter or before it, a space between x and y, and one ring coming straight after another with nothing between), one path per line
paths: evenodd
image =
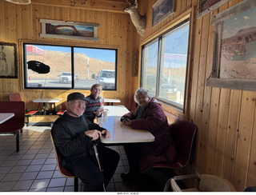
M178 173L209 173L225 177L238 191L256 185L256 93L206 86L214 52L214 26L210 18L242 0L230 0L218 9L196 18L198 0L176 1L176 11L157 26L151 27L152 6L156 0L142 1L146 8L147 28L140 46L170 29L182 14L194 10L190 58L188 107L183 113L198 127L190 165ZM143 7L143 6L142 6ZM177 110L163 107L182 116Z

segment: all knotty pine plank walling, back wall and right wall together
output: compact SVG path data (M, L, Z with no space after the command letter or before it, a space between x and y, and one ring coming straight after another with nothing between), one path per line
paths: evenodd
M140 55L142 43L156 38L168 30L175 19L194 10L193 50L190 58L190 82L188 107L184 115L198 127L190 164L178 173L210 173L225 177L238 191L256 185L256 92L228 90L206 86L210 76L213 50L214 26L210 18L242 0L230 0L218 9L196 18L198 0L176 0L176 11L157 26L152 27L152 6L157 0L140 0L139 11L146 14L146 33L138 36L128 14L109 13L76 8L41 6L17 6L0 1L0 38L2 42L19 43L19 39L38 42L63 42L61 39L40 38L39 18L76 22L95 22L100 42L66 40L83 46L118 47L118 90L103 92L106 98L119 98L122 105L129 106L131 95L140 86ZM135 40L135 41L134 41ZM134 44L134 42L136 44ZM133 53L138 52L138 77L133 76ZM0 100L8 100L8 94L20 92L28 109L36 109L31 100L39 98L42 90L22 90L22 64L18 50L18 79L0 79ZM72 90L43 90L45 98L63 98ZM89 90L82 93L89 94ZM60 105L58 105L60 106ZM178 114L166 105L164 109Z

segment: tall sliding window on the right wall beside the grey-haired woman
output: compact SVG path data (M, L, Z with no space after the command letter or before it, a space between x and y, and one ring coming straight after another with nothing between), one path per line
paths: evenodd
M142 86L160 101L184 106L190 22L142 47Z

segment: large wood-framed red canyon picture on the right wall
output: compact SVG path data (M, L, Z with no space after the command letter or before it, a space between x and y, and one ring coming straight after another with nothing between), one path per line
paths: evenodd
M213 70L206 86L256 91L256 1L244 0L211 18Z

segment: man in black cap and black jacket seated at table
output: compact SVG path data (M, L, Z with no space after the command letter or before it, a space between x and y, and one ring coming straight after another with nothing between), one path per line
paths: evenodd
M94 145L98 138L110 137L110 131L87 119L84 114L86 98L83 94L69 94L66 107L66 112L54 121L51 130L56 149L62 156L62 166L82 180L85 191L102 192L103 183L106 186L110 182L120 157L116 151L97 145L103 168L101 172Z

